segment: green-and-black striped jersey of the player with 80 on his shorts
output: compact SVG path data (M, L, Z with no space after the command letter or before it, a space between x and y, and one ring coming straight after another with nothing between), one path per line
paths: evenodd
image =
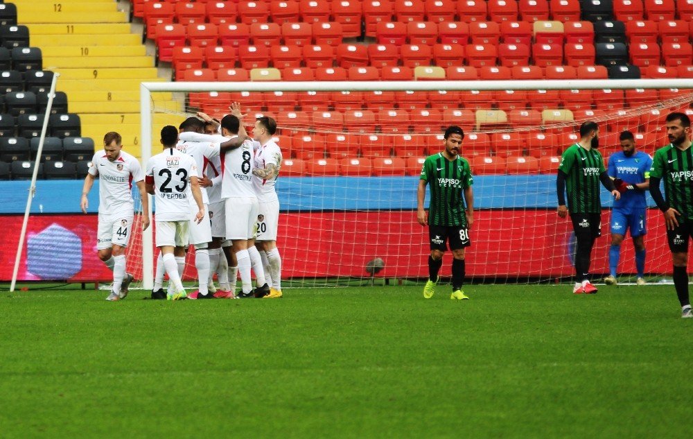
M421 180L428 182L431 193L428 223L466 227L463 191L474 182L469 162L459 155L452 162L443 153L430 155L423 162Z

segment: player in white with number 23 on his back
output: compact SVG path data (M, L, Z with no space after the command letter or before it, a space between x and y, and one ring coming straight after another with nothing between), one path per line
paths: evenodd
M206 214L198 184L197 165L193 157L177 150L177 140L178 130L175 126L168 125L161 129L164 150L149 159L146 176L147 191L156 199L156 246L161 250L166 273L173 283L173 292L166 295L166 300L186 298L173 252L175 248L184 248L188 244L191 196L198 208L195 223L202 222Z

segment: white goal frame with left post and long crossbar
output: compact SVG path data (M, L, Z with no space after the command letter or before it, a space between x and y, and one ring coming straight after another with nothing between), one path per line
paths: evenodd
M152 93L155 92L405 92L405 91L471 91L471 90L537 90L537 89L693 89L693 79L609 79L609 80L419 80L419 81L322 81L322 82L175 82L141 83L142 162L146 165L152 151ZM152 203L149 205L150 215ZM143 288L152 289L154 255L152 227L142 235Z

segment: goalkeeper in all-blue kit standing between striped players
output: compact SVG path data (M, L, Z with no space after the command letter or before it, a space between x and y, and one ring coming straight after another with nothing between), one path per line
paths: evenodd
M645 244L647 218L645 191L649 188L649 169L652 158L635 150L635 138L630 131L622 132L618 139L622 151L608 158L608 175L621 193L621 199L613 203L611 211L611 248L608 251L609 275L604 278L607 285L616 284L616 269L621 257L621 243L626 230L631 230L635 247L635 268L638 270L638 285L644 285Z

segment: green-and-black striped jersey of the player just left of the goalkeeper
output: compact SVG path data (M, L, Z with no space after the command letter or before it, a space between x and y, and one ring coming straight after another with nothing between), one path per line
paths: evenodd
M563 151L559 171L563 171L568 189L568 210L571 214L599 214L601 182L599 175L605 172L602 153L595 148L586 150L574 144Z

